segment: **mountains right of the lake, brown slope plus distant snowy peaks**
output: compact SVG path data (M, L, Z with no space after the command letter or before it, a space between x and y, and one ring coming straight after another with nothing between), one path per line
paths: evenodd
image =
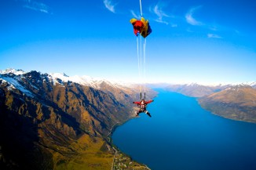
M256 123L256 83L239 85L168 85L171 92L197 97L201 107L224 118Z

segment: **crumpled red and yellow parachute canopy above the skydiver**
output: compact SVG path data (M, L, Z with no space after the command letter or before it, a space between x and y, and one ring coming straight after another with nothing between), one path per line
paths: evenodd
M136 36L141 34L142 37L146 38L152 32L148 20L145 20L144 17L141 17L141 20L133 18L130 23L133 24L133 32Z

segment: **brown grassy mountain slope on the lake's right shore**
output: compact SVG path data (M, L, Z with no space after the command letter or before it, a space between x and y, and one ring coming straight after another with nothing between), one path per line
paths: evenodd
M235 86L199 99L201 106L225 118L256 122L256 89Z

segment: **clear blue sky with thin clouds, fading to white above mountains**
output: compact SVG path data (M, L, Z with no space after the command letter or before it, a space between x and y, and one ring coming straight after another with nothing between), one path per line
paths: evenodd
M147 81L256 81L255 1L141 2ZM133 17L139 0L1 0L0 70L137 81Z

